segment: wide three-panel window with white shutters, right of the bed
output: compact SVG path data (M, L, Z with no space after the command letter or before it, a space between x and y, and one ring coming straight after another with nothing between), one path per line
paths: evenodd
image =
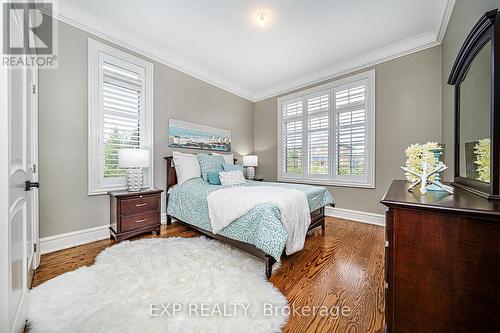
M278 180L375 185L375 71L278 99Z

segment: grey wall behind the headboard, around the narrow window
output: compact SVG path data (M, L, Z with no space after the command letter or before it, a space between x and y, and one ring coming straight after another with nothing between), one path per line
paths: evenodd
M39 75L40 237L109 223L108 197L87 195L88 37L100 40L59 22L59 68ZM165 187L169 118L231 129L233 152L252 151L252 102L152 62L156 187Z

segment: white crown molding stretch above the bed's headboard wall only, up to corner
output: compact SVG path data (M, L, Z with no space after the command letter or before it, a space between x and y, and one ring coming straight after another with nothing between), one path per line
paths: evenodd
M230 80L201 68L169 50L145 40L127 30L92 15L64 0L54 0L53 17L61 22L91 33L151 60L174 68L247 100L254 101L252 92Z

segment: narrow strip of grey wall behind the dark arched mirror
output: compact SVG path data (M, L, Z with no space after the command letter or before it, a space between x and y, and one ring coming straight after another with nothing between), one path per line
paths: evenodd
M442 106L442 142L446 144L445 164L449 169L445 172L445 179L452 180L454 170L454 111L453 86L448 85L448 76L455 62L458 51L472 26L485 12L500 8L500 0L456 0L450 22L444 35L442 47L443 70L443 106Z

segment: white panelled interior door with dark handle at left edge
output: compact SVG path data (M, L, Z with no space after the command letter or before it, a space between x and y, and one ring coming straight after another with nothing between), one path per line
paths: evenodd
M19 18L11 20L11 38L22 39L21 22ZM6 113L2 119L7 120L7 136L2 136L7 141L2 144L7 147L7 166L2 177L7 177L5 200L8 207L6 225L2 225L2 231L7 232L7 237L2 237L2 241L6 240L2 249L6 251L0 254L3 256L0 273L6 276L0 279L2 332L22 332L24 328L26 296L38 258L34 251L38 239L38 194L33 190L37 184L37 172L34 171L38 171L34 167L37 162L37 99L36 90L33 90L36 79L36 69L2 69L2 96L5 96L2 112Z

